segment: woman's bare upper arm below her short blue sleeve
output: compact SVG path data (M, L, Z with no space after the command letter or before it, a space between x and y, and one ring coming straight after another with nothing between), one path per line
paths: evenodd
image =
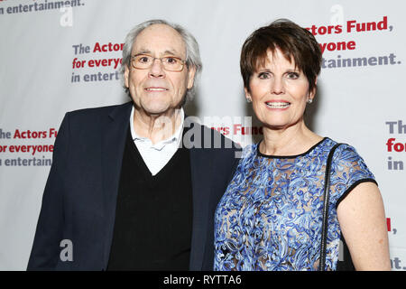
M374 182L362 182L348 193L337 218L355 270L391 270L383 200Z

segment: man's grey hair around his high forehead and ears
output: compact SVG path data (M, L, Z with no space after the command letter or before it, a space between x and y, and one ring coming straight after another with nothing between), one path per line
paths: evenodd
M127 66L130 69L130 61L131 61L131 52L133 51L133 44L137 36L143 32L143 30L153 24L165 24L176 30L178 33L180 33L180 36L183 39L183 42L185 42L186 46L186 65L188 69L190 67L195 67L196 68L196 74L195 74L195 79L194 79L194 85L191 89L188 89L186 92L186 98L184 99L182 105L185 103L187 99L192 99L192 97L195 94L195 89L196 89L196 83L198 76L202 70L202 63L200 60L200 52L198 50L198 42L196 41L195 37L191 33L189 33L185 28L181 27L179 24L175 23L169 23L165 20L161 19L154 19L154 20L149 20L143 23L140 23L136 25L128 34L125 36L125 44L123 47L123 61L120 69L120 73L122 76L122 79L124 79L125 75L125 66ZM130 96L130 92L127 88L125 88L125 92ZM131 96L130 96L131 98Z

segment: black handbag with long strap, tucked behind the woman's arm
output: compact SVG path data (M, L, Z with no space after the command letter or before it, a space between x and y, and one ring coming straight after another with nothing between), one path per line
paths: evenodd
M320 245L320 266L319 271L326 270L326 248L327 248L327 235L328 235L328 203L330 199L330 171L331 162L333 160L334 152L337 147L341 144L335 144L329 154L326 164L326 176L324 180L324 207L323 207L323 224L321 227L321 245ZM337 261L337 271L354 271L355 267L351 259L348 247L346 246L346 240L341 234L340 245L339 245L339 256Z

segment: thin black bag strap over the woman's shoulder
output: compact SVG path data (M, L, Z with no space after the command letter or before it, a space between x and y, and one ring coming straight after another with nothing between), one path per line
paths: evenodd
M320 246L320 271L326 270L326 247L327 247L327 234L328 234L328 204L330 199L330 171L333 155L337 147L341 144L335 144L328 154L326 163L326 176L324 179L324 207L323 207L323 224L321 227L321 246Z

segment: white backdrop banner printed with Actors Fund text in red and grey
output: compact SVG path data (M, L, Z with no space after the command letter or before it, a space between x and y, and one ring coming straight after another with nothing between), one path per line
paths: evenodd
M239 54L256 28L288 18L323 51L306 122L355 146L382 191L392 270L406 270L406 3L331 0L0 0L0 270L25 270L60 122L129 100L119 74L135 24L180 23L203 71L187 114L242 145L263 131L245 102Z

